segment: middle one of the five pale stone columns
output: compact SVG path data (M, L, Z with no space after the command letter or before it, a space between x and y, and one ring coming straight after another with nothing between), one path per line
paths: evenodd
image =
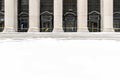
M62 28L62 14L63 14L63 0L54 0L54 30L53 32L63 32Z

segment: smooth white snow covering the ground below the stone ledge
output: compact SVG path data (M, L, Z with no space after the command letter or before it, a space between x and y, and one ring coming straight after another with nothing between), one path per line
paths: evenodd
M0 40L0 80L120 80L114 40Z

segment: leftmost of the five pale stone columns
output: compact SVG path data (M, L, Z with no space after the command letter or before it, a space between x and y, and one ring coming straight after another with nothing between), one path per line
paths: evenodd
M15 32L17 28L17 0L5 0L4 32Z

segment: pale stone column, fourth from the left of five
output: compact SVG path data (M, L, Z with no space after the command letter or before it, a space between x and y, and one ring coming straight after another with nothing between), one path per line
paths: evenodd
M78 10L78 32L88 32L87 28L87 0L77 0Z

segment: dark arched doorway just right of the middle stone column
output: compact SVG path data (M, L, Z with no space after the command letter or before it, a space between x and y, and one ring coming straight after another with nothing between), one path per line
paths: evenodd
M77 0L63 0L63 30L77 32Z

